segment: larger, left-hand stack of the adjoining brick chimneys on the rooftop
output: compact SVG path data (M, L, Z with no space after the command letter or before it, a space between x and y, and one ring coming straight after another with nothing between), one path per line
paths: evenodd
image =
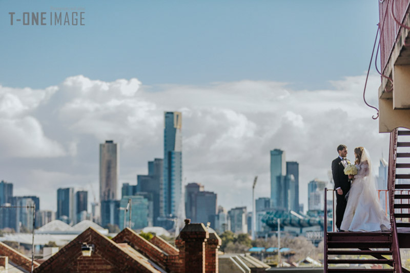
M208 229L203 223L190 222L190 219L185 220L185 226L179 234L185 245L185 259L182 263L185 264L184 269L189 268L189 272L205 273L205 243L209 238Z

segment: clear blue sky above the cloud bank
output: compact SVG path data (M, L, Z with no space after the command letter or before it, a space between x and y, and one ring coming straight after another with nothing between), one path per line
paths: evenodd
M58 4L57 4L58 3ZM8 12L85 9L85 26L10 26ZM72 75L144 84L271 80L329 87L361 75L376 1L0 1L0 84Z

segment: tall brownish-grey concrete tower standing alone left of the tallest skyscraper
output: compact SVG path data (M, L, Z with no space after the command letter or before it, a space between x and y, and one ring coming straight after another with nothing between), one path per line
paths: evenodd
M99 198L100 201L117 199L118 150L112 140L99 145Z

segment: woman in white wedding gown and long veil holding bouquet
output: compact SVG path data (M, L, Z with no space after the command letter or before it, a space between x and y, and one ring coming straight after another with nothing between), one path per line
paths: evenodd
M357 174L350 188L340 230L356 232L389 231L390 222L377 197L372 162L367 150L355 148Z

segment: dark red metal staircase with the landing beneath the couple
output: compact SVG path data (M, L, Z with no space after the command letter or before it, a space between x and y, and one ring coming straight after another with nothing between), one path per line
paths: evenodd
M410 233L400 232L402 227L410 228L410 183L402 179L410 179L410 130L395 129L387 181L389 211L394 212L390 214L391 232L327 232L325 213L324 272L410 272L401 266L400 257L400 247L410 247ZM327 189L325 212L326 193Z

